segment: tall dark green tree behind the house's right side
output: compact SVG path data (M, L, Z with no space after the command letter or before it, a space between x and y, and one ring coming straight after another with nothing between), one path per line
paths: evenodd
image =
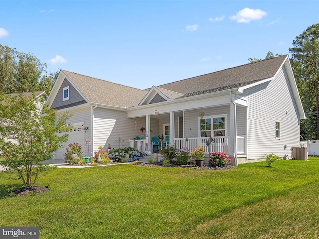
M289 52L307 116L301 122L302 136L319 140L319 23L297 36Z

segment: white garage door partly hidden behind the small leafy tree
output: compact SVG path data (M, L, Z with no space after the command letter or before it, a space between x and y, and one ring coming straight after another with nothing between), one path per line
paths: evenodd
M54 154L55 156L48 162L52 163L64 163L64 154L66 153L66 148L68 148L70 143L78 142L82 146L82 151L84 151L84 130L82 125L73 126L72 131L65 132L69 134L68 141L63 143L63 147L59 148ZM58 133L61 136L65 133Z

